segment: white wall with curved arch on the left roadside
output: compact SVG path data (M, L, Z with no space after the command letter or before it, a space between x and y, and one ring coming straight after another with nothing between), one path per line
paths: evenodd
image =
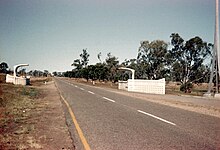
M28 64L19 64L14 66L14 75L11 76L9 74L6 75L6 83L13 83L15 85L20 84L20 85L27 85L27 83L30 82L29 78L26 77L18 77L17 76L17 70L19 67L22 66L29 66Z

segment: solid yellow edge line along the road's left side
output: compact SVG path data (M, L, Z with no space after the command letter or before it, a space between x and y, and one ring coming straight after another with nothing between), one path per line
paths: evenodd
M81 142L82 142L82 144L83 144L85 150L91 150L91 148L90 148L90 146L89 146L89 144L88 144L88 142L87 142L85 136L83 135L83 132L82 132L82 130L81 130L81 128L80 128L80 126L79 126L77 120L76 120L76 117L75 117L75 115L74 115L72 109L70 108L70 105L69 105L68 102L63 98L62 95L60 95L60 96L61 96L62 100L64 101L64 103L66 104L66 106L67 106L67 108L68 108L68 110L69 110L70 116L71 116L72 121L73 121L73 123L74 123L74 125L75 125L75 127L76 127L76 130L77 130L77 132L78 132L78 135L79 135L79 137L80 137L80 139L81 139Z

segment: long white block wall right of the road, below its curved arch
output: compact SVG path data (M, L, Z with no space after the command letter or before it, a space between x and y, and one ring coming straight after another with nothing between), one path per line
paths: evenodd
M129 79L127 82L119 81L118 88L131 92L165 94L165 85L165 78L160 80Z

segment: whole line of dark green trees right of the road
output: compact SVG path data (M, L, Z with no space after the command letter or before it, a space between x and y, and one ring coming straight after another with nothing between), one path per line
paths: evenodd
M64 76L116 82L129 78L129 73L117 70L123 66L134 69L138 79L166 78L166 81L182 85L203 83L209 80L212 48L213 44L198 36L184 41L178 33L172 33L170 44L162 40L140 42L137 58L119 64L118 58L108 53L102 62L99 53L99 62L95 65L88 65L90 55L87 49L83 49L80 58L72 64L74 69L65 72Z

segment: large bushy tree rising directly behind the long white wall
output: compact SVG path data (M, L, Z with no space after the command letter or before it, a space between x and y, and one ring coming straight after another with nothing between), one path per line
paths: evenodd
M166 68L166 55L168 44L161 40L142 41L138 50L138 73L141 78L163 78Z

